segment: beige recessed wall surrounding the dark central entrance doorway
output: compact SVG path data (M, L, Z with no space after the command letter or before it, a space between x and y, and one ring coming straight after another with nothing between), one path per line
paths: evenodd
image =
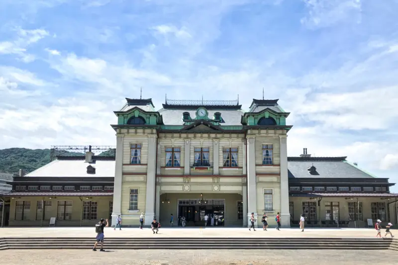
M162 203L163 200L170 200ZM174 225L177 226L178 220L178 199L199 199L200 193L167 193L160 196L160 222L163 226L168 226L170 221L170 214L174 215ZM239 226L243 225L242 220L238 220L238 206L237 202L242 201L240 194L220 194L220 193L203 193L203 199L225 199L224 206L224 222L225 226ZM199 214L199 212L198 212Z

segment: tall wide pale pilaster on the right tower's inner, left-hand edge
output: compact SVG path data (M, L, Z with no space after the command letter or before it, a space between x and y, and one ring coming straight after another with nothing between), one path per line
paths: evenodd
M247 136L247 218L252 212L257 218L257 181L255 136ZM257 226L257 224L256 224Z

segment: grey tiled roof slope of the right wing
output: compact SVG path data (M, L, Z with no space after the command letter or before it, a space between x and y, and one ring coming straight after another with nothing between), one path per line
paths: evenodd
M301 159L301 158L300 158ZM304 159L304 158L303 158ZM308 159L308 158L305 158ZM312 160L315 158L311 158L310 161L292 161L288 159L288 169L289 169L289 178L301 178L301 177L329 177L329 178L371 178L375 177L358 167L351 165L347 161L342 161L339 159L326 159L326 161L322 160ZM319 159L319 158L318 158ZM308 172L308 168L311 166L316 168L316 172L319 175L311 175Z

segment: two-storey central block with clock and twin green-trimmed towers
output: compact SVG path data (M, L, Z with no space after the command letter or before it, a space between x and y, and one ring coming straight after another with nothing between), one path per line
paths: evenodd
M290 226L287 133L289 113L278 100L126 99L115 111L116 168L112 219L145 225L184 216L203 225L246 226L254 212L281 213ZM261 219L261 218L260 218ZM275 218L269 218L270 223ZM210 224L210 221L209 221Z

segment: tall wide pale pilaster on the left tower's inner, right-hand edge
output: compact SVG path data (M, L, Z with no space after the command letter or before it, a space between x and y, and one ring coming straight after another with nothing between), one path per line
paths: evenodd
M145 226L150 226L155 217L155 182L156 182L156 138L148 135L148 166L146 174Z

